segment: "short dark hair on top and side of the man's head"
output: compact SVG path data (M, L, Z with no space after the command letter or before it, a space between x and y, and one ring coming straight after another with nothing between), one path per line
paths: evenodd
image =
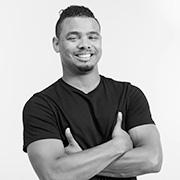
M91 17L91 18L94 18L97 21L97 23L99 24L99 21L96 19L93 12L89 8L84 7L84 6L72 5L72 6L67 7L64 10L61 10L60 12L61 12L60 17L56 23L56 29L55 29L55 34L56 34L57 38L59 38L59 35L61 32L61 24L65 18L81 17L81 16ZM99 27L100 27L100 24L99 24Z

